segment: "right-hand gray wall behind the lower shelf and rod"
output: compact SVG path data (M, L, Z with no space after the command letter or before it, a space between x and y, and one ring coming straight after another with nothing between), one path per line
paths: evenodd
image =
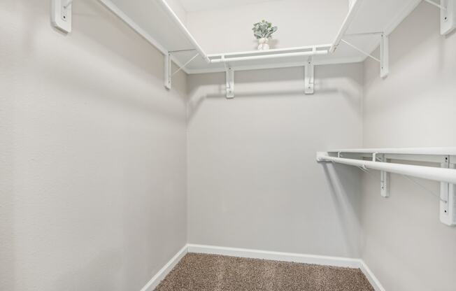
M439 34L439 9L420 4L390 36L390 76L364 64L365 147L456 145L455 52L456 34ZM439 193L438 183L419 182ZM439 222L438 198L392 175L383 199L373 172L362 213L362 257L386 290L455 290L456 228Z

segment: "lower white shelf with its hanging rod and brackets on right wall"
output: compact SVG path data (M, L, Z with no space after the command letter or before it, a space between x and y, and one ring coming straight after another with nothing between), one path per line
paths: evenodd
M366 160L367 158L369 160ZM418 161L440 164L417 166L397 164L391 160ZM439 219L448 226L456 226L456 148L355 148L317 152L318 162L334 162L357 166L362 171L380 171L380 194L390 197L389 173L440 182ZM411 178L409 178L411 179ZM411 179L412 180L412 179ZM414 180L413 180L414 181ZM418 183L414 181L415 183ZM423 187L420 183L418 183ZM427 190L427 188L425 188ZM429 190L427 190L429 191ZM432 192L432 191L430 191ZM434 192L432 192L434 194Z

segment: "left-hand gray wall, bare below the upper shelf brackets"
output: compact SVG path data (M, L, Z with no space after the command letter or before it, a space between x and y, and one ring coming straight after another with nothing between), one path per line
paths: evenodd
M185 74L97 1L0 1L0 290L140 290L184 246Z

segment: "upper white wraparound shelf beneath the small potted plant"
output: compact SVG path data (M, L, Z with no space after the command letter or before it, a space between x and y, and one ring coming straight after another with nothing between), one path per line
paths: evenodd
M173 52L171 58L178 66L183 66L197 54L192 62L183 67L186 73L223 72L227 64L236 71L304 66L309 56L313 57L314 64L362 62L366 54L371 54L379 45L380 38L376 34L363 37L358 37L357 34L379 31L389 34L420 3L420 0L354 1L334 43L330 44L279 48L269 52L222 52L206 55L165 0L99 1L164 55Z

